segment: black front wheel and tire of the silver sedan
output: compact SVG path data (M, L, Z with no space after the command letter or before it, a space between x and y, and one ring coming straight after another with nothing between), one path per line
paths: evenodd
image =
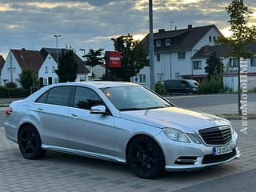
M147 136L134 138L130 143L127 162L134 174L140 178L158 178L165 170L160 146Z

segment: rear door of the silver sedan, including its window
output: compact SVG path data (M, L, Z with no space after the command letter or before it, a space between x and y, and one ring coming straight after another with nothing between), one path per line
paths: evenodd
M67 147L67 112L71 93L71 86L54 87L30 106L32 116L37 118L42 144Z

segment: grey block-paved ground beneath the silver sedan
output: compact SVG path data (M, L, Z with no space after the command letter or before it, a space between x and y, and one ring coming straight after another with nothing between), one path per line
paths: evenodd
M240 129L241 121L233 121ZM250 127L256 120L250 120ZM167 173L162 178L136 177L126 165L50 152L42 160L26 160L0 127L0 191L174 191L256 168L256 128L239 133L242 158L193 172ZM237 182L237 185L239 183ZM207 191L207 190L203 190Z

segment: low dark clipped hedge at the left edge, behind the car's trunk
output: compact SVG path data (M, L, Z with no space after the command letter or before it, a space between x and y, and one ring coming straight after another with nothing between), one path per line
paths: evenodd
M0 86L0 98L26 98L29 95L29 90Z

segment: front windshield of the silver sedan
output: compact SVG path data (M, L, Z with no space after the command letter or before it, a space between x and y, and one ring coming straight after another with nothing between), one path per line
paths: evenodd
M107 87L102 89L102 92L121 111L149 110L171 106L169 102L142 86Z

